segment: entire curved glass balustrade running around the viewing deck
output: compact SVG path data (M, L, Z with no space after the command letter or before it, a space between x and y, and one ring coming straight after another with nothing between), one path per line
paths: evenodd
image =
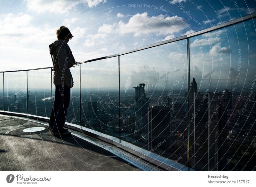
M70 68L66 121L198 171L252 171L254 21ZM0 110L50 117L51 70L0 73Z

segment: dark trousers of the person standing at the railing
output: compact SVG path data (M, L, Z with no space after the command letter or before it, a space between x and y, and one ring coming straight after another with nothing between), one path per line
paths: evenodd
M48 128L52 132L61 131L64 127L70 100L70 88L67 85L55 85L55 99L52 106Z

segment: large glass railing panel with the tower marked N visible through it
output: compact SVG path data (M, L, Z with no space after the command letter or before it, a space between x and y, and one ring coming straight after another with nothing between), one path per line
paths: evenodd
M186 163L187 41L120 56L121 138Z

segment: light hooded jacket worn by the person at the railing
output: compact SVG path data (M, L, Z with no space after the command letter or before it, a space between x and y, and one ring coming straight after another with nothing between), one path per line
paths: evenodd
M53 63L53 84L66 84L68 88L72 88L74 82L69 68L72 67L76 61L68 44L63 40L56 40L49 45L49 49Z

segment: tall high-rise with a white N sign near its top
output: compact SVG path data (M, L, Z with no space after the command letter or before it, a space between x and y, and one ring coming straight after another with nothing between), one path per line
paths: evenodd
M147 114L149 107L149 98L146 97L145 84L140 83L140 86L134 88L134 106L135 106L135 129L134 135L140 136L141 134L148 133L147 127Z

